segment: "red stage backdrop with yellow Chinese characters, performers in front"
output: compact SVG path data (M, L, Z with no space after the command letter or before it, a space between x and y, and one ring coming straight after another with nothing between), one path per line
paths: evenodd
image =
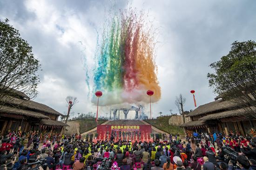
M97 139L151 141L151 125L97 125Z

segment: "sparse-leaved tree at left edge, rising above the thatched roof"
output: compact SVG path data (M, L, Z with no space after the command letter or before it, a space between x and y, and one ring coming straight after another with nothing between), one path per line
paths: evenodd
M0 110L7 101L14 100L10 94L23 92L28 99L37 95L38 69L32 47L8 24L8 19L0 20Z

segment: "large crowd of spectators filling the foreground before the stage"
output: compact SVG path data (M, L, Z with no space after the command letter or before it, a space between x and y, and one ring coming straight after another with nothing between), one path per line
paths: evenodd
M169 136L163 142L92 142L78 134L9 132L0 137L0 170L256 170L256 143L249 135Z

